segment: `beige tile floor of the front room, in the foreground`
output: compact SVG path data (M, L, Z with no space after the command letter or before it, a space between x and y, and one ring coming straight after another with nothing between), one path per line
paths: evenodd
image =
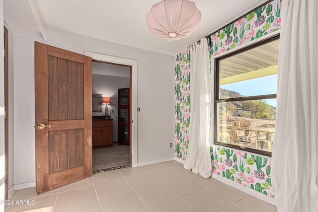
M15 191L7 212L277 212L265 203L214 178L204 179L177 161L94 174L35 196L35 188Z

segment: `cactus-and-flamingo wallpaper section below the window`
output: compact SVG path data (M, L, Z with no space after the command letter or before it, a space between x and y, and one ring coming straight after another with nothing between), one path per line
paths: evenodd
M212 172L274 198L271 158L211 146Z

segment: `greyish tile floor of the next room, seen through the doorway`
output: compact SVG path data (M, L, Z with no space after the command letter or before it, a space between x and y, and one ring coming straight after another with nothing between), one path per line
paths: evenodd
M118 145L103 148L93 148L93 171L124 166L130 164L129 146Z

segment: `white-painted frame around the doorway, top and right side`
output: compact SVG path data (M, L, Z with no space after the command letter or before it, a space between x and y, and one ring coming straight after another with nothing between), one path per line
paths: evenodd
M115 65L130 66L130 99L131 99L131 115L130 115L130 156L131 166L138 166L138 61L126 58L114 57L109 55L97 54L93 52L84 52L85 56L91 57L96 62L106 62Z

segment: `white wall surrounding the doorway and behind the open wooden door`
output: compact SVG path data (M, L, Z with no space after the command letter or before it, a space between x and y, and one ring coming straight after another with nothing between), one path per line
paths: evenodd
M174 57L47 28L49 45L138 61L138 162L174 156ZM14 184L35 181L34 39L13 36ZM17 130L18 129L18 130Z

